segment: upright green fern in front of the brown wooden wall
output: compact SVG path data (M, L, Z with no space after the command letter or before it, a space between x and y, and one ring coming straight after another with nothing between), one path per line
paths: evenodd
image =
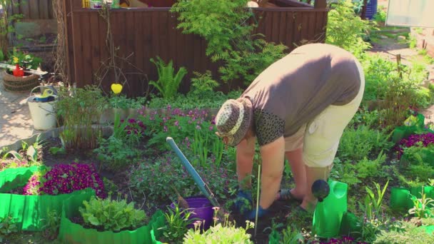
M183 77L188 73L187 69L181 67L175 74L173 61L166 64L159 56L156 57L156 60L151 59L151 62L157 67L158 81L150 81L149 84L155 86L163 98L172 98L178 93L179 85Z

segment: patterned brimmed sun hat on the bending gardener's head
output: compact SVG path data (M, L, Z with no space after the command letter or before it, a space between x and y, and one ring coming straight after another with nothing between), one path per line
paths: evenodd
M246 136L252 116L252 103L248 98L229 99L217 113L216 134L227 138L229 146L237 146Z

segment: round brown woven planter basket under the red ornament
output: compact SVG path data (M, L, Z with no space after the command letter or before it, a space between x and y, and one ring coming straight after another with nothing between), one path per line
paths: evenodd
M30 76L16 77L10 73L3 72L3 84L6 91L15 93L26 93L32 88L39 86L39 76L31 74Z

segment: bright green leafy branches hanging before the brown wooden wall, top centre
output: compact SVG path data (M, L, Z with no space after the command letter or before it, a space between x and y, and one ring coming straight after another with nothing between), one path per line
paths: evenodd
M208 43L206 55L213 61L226 59L238 45L244 43L253 26L246 21L252 16L245 6L247 0L212 1L212 0L181 0L173 4L171 11L179 14L177 26L183 29L183 34L197 34Z

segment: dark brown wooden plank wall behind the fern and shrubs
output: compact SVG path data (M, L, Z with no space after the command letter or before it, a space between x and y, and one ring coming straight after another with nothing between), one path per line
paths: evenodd
M106 49L107 24L98 11L82 9L81 1L66 1L66 41L68 46L67 66L71 81L77 86L96 83L95 72L101 62L109 58ZM158 1L156 1L157 3ZM166 1L165 1L166 2ZM292 0L278 0L278 8L253 9L258 21L255 33L264 34L267 41L285 44L288 51L302 41L323 42L328 9L325 0L317 0L315 7ZM161 3L161 1L160 1ZM155 6L155 5L152 5ZM189 78L193 71L211 70L218 73L218 63L212 63L205 54L206 41L200 36L181 34L176 29L177 19L170 7L145 9L116 9L111 11L113 42L118 46L119 56L130 56L133 66L146 73L149 80L158 78L156 67L149 61L160 56L173 60L176 69L184 66L188 76L183 79L181 91L188 91ZM71 14L69 14L71 12ZM124 65L125 73L136 72ZM108 91L113 76L102 81ZM148 84L137 76L128 76L126 93L140 96Z

